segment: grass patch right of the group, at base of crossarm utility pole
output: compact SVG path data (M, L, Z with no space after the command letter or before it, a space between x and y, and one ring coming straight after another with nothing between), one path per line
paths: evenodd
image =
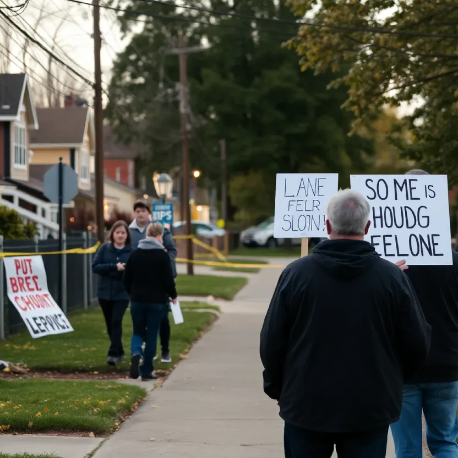
M178 275L176 290L178 297L214 296L221 299L234 299L240 289L248 283L245 277L223 277L217 275Z

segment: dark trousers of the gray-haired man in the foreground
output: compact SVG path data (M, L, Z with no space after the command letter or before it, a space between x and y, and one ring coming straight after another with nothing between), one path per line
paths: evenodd
M285 458L385 458L388 425L370 431L332 433L309 431L285 423Z

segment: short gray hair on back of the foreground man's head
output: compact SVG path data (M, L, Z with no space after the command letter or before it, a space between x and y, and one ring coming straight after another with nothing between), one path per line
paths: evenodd
M329 199L327 219L333 234L364 235L371 206L357 191L344 189Z

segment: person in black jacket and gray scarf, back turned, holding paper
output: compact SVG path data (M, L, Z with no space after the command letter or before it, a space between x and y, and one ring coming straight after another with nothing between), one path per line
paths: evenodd
M153 357L158 344L159 326L168 313L169 298L177 302L172 263L162 244L164 229L151 223L146 239L140 240L125 265L124 284L131 296L134 332L131 340L131 377L153 380ZM146 336L146 337L145 337ZM142 351L143 341L146 341ZM140 360L143 364L140 367Z

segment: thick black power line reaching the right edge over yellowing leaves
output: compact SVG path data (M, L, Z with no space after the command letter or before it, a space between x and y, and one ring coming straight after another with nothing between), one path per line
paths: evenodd
M342 30L342 31L347 31L347 32L371 32L371 33L380 33L380 34L385 34L385 35L405 35L405 36L411 36L411 37L433 37L433 38L458 38L458 35L455 34L447 34L447 33L419 33L419 32L411 32L407 30L389 30L389 29L383 29L383 28L378 28L378 27L350 27L350 26L344 26L344 25L339 25L339 24L325 24L325 23L317 23L317 22L309 22L309 21L292 21L292 20L287 20L287 19L275 19L273 17L262 17L262 16L250 16L247 14L241 14L241 13L232 13L230 11L216 11L216 10L210 10L207 8L202 8L198 6L188 6L188 5L176 5L174 3L168 3L165 1L161 0L141 0L145 3L153 3L156 5L164 5L164 6L170 6L172 8L183 8L186 10L192 10L192 11L201 11L205 13L210 13L215 16L229 16L229 17L239 17L242 19L250 19L251 21L268 21L268 22L276 22L279 24L289 24L289 25L295 25L295 26L309 26L309 27L316 27L316 28L329 28L329 29L337 29L337 30Z

